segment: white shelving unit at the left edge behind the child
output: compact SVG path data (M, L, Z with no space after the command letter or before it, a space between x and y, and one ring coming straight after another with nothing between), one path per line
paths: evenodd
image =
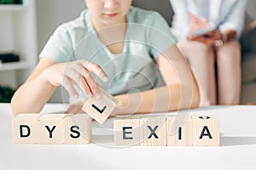
M0 85L18 88L38 62L36 1L0 4L0 52L16 52L21 59L0 63Z

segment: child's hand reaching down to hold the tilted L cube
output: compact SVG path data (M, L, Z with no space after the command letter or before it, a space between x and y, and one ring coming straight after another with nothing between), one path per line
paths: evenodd
M108 76L101 66L84 59L51 65L44 70L43 74L53 86L62 85L76 99L79 98L79 93L73 85L79 86L88 97L96 95L100 98L102 94L99 85L90 76L90 71L100 77L103 82L108 82Z

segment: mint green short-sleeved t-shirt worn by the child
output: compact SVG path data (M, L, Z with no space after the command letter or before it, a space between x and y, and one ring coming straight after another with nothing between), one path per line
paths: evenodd
M113 95L165 85L155 59L177 42L166 20L156 12L135 7L130 8L126 20L128 25L120 54L112 54L97 37L90 12L85 9L78 19L55 30L39 56L53 59L56 63L86 59L101 65L109 82L102 82L93 73L91 76ZM82 99L87 98L81 90L79 93ZM71 97L70 102L75 101Z

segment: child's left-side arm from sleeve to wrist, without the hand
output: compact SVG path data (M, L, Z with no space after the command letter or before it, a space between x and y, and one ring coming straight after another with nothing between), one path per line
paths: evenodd
M41 58L36 69L32 72L26 82L15 92L11 100L15 115L22 112L41 111L44 104L54 92L55 86L51 85L43 76L42 72L55 62L51 59Z

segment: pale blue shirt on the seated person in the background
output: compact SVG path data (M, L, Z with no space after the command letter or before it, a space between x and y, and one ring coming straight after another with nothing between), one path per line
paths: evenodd
M219 31L235 30L240 37L244 26L247 0L170 0L174 17L172 32L178 39L186 39L189 33L189 14L206 18Z

